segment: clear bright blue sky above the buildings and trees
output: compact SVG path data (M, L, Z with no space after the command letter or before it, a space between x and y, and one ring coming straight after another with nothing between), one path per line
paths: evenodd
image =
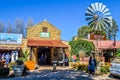
M62 40L71 40L78 28L87 25L85 10L94 2L105 4L120 26L120 0L0 0L0 20L14 23L16 18L22 18L26 23L32 18L37 24L47 19L62 31ZM117 40L119 36L120 31Z

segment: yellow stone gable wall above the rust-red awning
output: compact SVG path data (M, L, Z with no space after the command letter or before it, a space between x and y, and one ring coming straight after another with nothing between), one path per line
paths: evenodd
M42 32L43 27L48 28L48 33L50 33L49 38L40 37L40 32ZM61 31L54 27L47 21L43 21L37 25L31 26L27 29L27 39L52 39L60 40Z

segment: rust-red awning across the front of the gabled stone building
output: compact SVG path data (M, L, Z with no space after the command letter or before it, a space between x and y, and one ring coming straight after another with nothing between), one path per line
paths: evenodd
M27 40L27 46L45 46L45 47L63 47L68 46L62 43L60 40Z

